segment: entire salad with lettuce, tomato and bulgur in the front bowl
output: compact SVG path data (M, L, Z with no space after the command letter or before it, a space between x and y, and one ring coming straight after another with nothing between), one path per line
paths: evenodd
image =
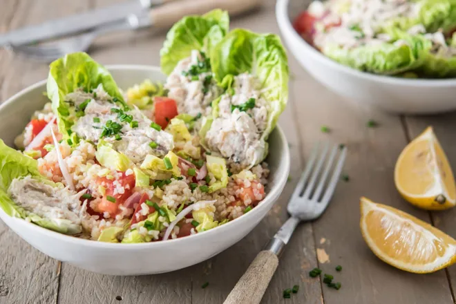
M175 23L160 56L167 82L126 91L86 53L50 64L50 102L19 151L0 140L0 207L62 234L146 243L260 204L267 137L287 103L280 39L230 32L213 10Z

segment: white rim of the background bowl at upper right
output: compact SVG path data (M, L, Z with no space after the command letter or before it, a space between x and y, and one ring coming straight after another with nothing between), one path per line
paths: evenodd
M294 30L292 22L288 16L288 6L290 0L278 0L276 2L276 19L278 27L283 31L283 35L292 35L293 43L298 43L299 46L305 49L306 52L311 53L316 59L319 59L330 68L338 70L341 73L348 73L354 77L364 77L372 82L382 82L384 84L393 84L397 86L426 86L426 87L447 87L456 86L456 78L453 79L433 79L433 78L400 78L390 75L377 75L373 73L363 72L356 70L339 62L326 57L321 52L316 50L313 46L307 43L298 33ZM296 42L297 41L297 42Z

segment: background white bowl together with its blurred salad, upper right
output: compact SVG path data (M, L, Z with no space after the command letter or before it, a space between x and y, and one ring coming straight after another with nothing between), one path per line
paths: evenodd
M392 113L456 109L452 1L278 0L294 57L343 97Z

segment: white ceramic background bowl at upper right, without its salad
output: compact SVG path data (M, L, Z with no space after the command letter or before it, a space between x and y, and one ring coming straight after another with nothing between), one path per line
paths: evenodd
M303 10L303 1L278 0L278 27L294 57L310 75L330 90L359 104L377 106L392 113L439 113L456 109L456 79L404 79L374 75L325 57L307 44L292 26L290 20Z

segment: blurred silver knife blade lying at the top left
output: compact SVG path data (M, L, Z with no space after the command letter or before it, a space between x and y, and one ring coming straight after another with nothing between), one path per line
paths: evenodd
M152 6L158 6L169 0L131 0L105 8L98 8L78 15L46 21L37 26L27 26L19 30L0 35L0 47L33 44L66 35L85 32L106 23L126 19L129 15L138 15Z

